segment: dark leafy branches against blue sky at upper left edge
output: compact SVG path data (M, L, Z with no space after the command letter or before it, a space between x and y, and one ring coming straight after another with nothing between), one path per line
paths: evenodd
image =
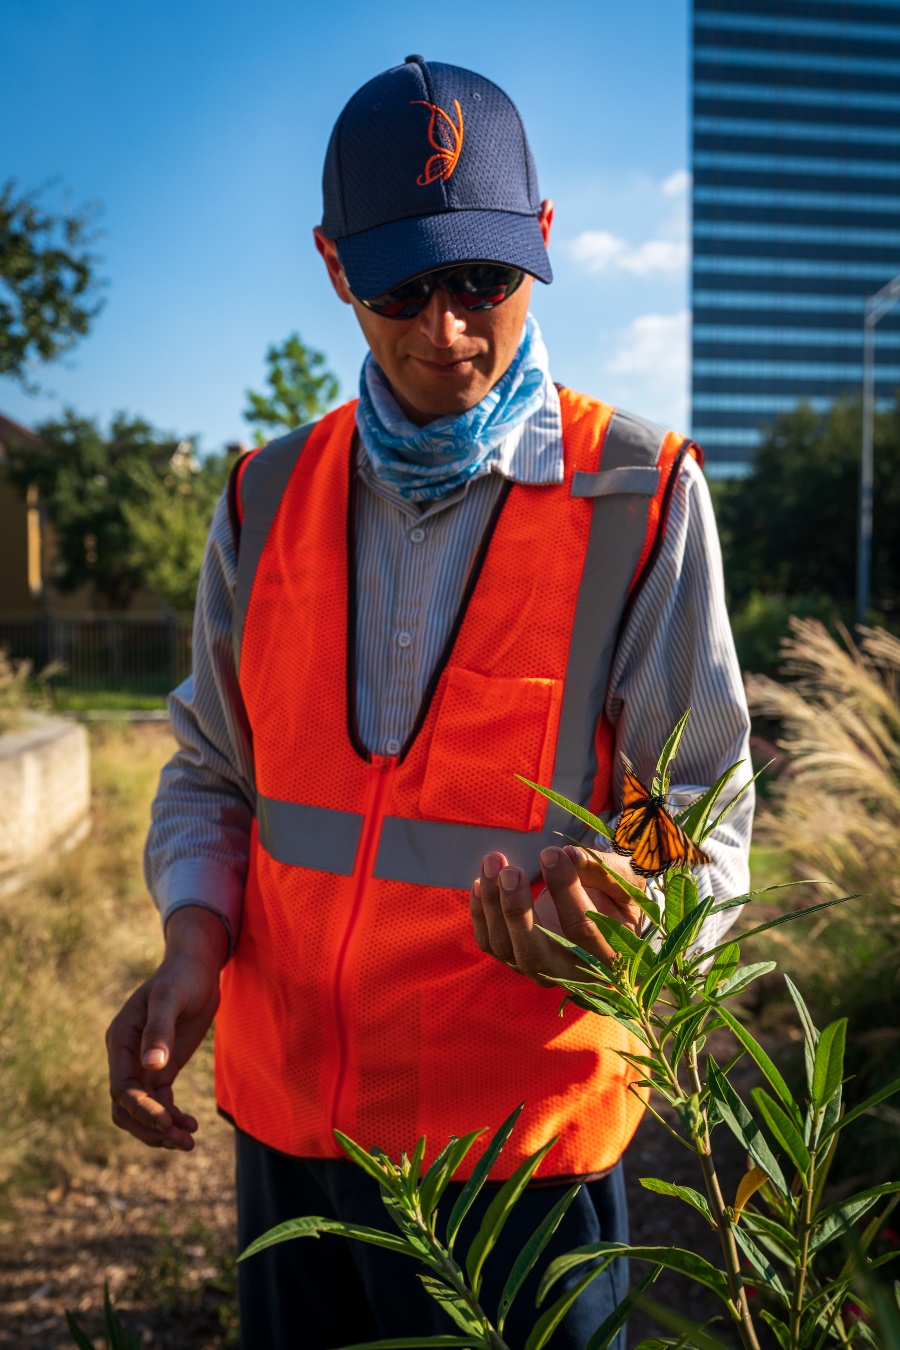
M39 192L0 189L0 375L30 393L27 371L84 338L103 308L92 252L96 208L53 213Z

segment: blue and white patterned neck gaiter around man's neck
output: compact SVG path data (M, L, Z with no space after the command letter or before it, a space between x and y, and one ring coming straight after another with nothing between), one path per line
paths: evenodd
M546 347L529 313L513 363L480 404L416 427L401 412L375 358L359 378L356 425L375 477L413 502L455 491L499 459L499 447L544 404Z

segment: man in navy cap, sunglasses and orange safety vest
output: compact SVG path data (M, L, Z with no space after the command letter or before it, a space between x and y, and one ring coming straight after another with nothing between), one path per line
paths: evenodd
M300 1214L383 1223L335 1127L391 1157L426 1133L433 1154L525 1099L499 1176L560 1141L488 1262L495 1310L572 1176L548 1258L625 1238L640 1115L618 1026L560 1021L534 987L571 964L530 883L542 869L541 918L598 953L587 907L640 913L514 775L614 810L618 752L649 775L692 706L696 791L746 755L746 709L699 452L551 379L528 310L553 208L506 94L409 57L339 117L324 197L316 247L370 347L360 398L248 456L213 521L147 844L166 956L109 1031L113 1119L192 1148L173 1081L221 984L244 1246ZM710 842L716 894L745 888L749 810ZM553 1345L583 1346L622 1293L610 1269ZM240 1308L266 1350L452 1331L414 1272L339 1239L242 1265Z

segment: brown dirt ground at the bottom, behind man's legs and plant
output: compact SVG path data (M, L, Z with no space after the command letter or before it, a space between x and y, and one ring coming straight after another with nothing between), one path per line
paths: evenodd
M746 1088L739 1071L735 1085ZM716 1142L726 1156L729 1196L743 1160L725 1139L723 1127ZM694 1157L649 1115L627 1150L626 1169L631 1241L688 1246L718 1265L715 1235L700 1218L681 1202L640 1185L640 1177L656 1176L702 1188ZM72 1346L63 1310L103 1345L104 1284L142 1346L235 1346L233 1233L231 1129L210 1111L201 1114L190 1157L148 1154L135 1145L117 1166L84 1166L65 1188L0 1202L0 1346ZM698 1322L715 1311L700 1285L677 1276L663 1276L652 1293ZM630 1345L652 1327L637 1312Z

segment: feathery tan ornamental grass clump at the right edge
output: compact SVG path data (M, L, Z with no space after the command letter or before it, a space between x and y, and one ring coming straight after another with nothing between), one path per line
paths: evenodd
M850 1018L850 1099L900 1075L900 639L862 629L860 647L816 620L792 620L785 683L748 676L753 713L781 725L787 772L761 805L756 841L781 878L823 878L797 907L858 894L815 921L766 934L769 953L820 1019ZM900 1111L854 1127L860 1166L900 1165Z

